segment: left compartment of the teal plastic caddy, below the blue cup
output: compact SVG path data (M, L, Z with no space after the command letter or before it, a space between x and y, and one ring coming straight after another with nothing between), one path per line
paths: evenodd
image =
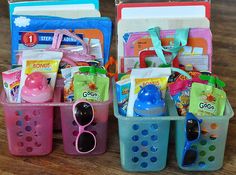
M179 118L173 102L169 97L166 98L169 116L124 117L118 112L115 89L113 92L114 114L119 123L120 158L123 169L131 172L164 169L167 160L170 122Z

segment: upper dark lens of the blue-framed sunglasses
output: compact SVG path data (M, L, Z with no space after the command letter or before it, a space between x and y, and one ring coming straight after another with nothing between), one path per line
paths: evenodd
M196 120L187 120L187 139L188 141L196 140L199 136L199 125Z

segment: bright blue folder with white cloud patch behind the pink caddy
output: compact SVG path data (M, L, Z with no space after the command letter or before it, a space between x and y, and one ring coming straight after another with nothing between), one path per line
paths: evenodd
M22 21L22 19L24 19ZM104 37L104 63L109 59L112 40L112 21L107 17L66 19L58 17L12 16L12 64L17 64L16 51L21 32L56 29L98 29Z

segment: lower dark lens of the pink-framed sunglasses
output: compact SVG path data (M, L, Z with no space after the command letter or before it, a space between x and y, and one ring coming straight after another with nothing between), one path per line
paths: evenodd
M84 132L80 135L78 139L78 150L80 152L89 152L95 147L95 139L91 133Z

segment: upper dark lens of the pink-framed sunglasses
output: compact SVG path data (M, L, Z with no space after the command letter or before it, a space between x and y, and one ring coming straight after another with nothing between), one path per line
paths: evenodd
M89 124L93 119L93 109L89 103L81 102L75 106L75 117L81 126Z

